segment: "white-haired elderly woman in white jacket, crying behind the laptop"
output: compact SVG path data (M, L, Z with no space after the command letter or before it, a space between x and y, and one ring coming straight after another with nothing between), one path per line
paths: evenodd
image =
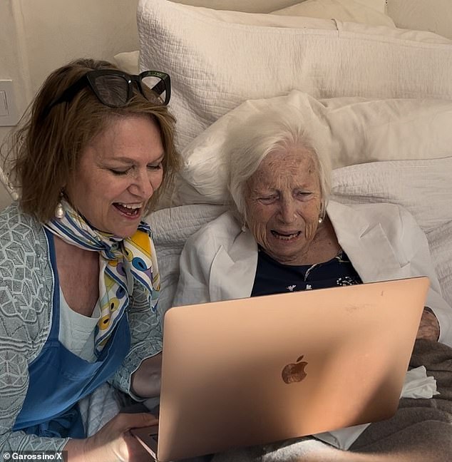
M329 200L328 155L296 108L252 118L228 155L232 210L186 242L175 304L426 275L431 289L418 338L452 345L452 309L414 218L397 205ZM302 460L366 460L324 451ZM417 460L411 456L403 460Z

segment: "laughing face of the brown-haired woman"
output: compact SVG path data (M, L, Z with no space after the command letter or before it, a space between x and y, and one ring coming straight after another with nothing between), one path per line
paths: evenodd
M163 179L160 130L150 118L113 119L81 153L65 190L73 207L96 229L128 237Z

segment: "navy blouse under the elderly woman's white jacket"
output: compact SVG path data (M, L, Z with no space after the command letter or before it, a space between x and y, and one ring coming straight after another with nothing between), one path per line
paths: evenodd
M343 250L328 262L292 266L278 263L260 248L251 297L361 283Z

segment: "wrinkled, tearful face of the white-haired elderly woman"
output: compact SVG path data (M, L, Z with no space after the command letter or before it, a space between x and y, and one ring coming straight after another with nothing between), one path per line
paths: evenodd
M247 181L247 225L284 265L302 265L319 225L322 193L314 155L305 148L269 153Z

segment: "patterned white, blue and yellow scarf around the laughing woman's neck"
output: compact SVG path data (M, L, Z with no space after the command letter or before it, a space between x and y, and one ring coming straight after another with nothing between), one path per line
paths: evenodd
M140 222L133 236L123 239L93 228L65 200L61 204L63 218L54 218L44 226L69 244L99 252L101 319L94 336L94 351L98 356L128 307L134 280L148 289L149 302L158 297L160 275L154 243L145 222Z

